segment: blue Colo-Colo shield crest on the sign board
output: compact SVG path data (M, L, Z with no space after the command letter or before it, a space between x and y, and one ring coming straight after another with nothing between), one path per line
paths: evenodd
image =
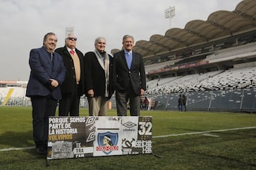
M98 133L97 136L98 147L97 151L102 151L105 154L110 154L114 150L118 150L118 133L105 132Z

